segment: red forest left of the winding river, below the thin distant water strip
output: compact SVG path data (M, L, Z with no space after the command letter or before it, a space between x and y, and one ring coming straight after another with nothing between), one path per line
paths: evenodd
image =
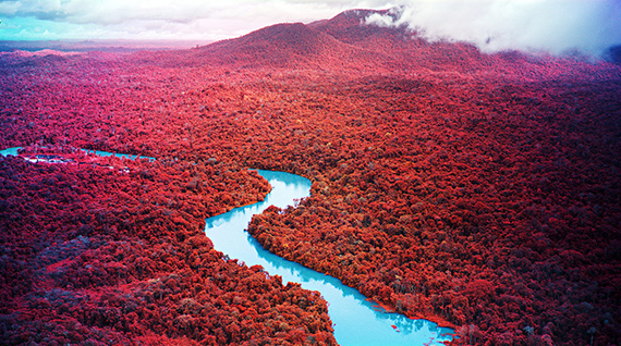
M206 214L267 194L256 173L73 159L0 157L4 342L336 345L319 296L224 261L203 233ZM108 169L120 162L126 173Z

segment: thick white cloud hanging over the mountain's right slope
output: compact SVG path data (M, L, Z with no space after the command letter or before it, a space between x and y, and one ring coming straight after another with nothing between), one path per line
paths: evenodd
M411 1L367 24L404 26L431 40L470 41L508 49L600 54L621 44L619 0Z

